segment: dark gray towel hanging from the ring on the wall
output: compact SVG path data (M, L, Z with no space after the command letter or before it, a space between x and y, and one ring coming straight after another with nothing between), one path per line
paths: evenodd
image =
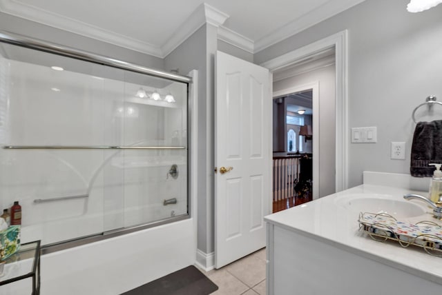
M419 122L414 130L410 173L431 177L434 167L430 163L442 163L442 120Z

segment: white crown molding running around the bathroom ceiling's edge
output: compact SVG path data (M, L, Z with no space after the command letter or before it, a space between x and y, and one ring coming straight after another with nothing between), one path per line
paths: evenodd
M175 50L175 48L188 39L194 32L204 26L205 23L210 23L218 28L218 39L250 52L251 54L255 54L363 1L365 0L330 0L323 6L319 6L315 10L300 17L300 19L292 21L287 24L287 26L283 26L271 32L271 34L268 34L256 42L224 27L223 24L229 19L229 15L206 3L202 3L161 46L91 26L88 23L70 19L26 3L21 3L19 0L0 0L0 11L37 23L43 23L46 26L59 28L84 37L97 39L164 59L164 57Z

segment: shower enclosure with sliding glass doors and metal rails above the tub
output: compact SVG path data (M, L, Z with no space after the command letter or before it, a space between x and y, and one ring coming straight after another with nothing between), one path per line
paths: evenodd
M22 243L189 218L189 83L1 32L0 207L21 204Z

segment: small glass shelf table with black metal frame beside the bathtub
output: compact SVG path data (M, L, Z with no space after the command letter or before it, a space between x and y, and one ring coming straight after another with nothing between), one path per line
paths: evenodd
M39 295L40 241L21 244L19 251L1 262L4 265L3 273L0 274L0 294L21 294L32 280L30 294ZM12 290L12 293L8 290Z

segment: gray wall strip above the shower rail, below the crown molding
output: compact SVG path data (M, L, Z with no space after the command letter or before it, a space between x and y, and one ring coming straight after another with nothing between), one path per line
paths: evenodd
M163 60L158 57L59 30L41 23L28 21L27 19L21 19L3 12L0 12L0 30L23 34L28 37L93 52L105 57L113 57L114 59L144 65L149 68L163 69Z

